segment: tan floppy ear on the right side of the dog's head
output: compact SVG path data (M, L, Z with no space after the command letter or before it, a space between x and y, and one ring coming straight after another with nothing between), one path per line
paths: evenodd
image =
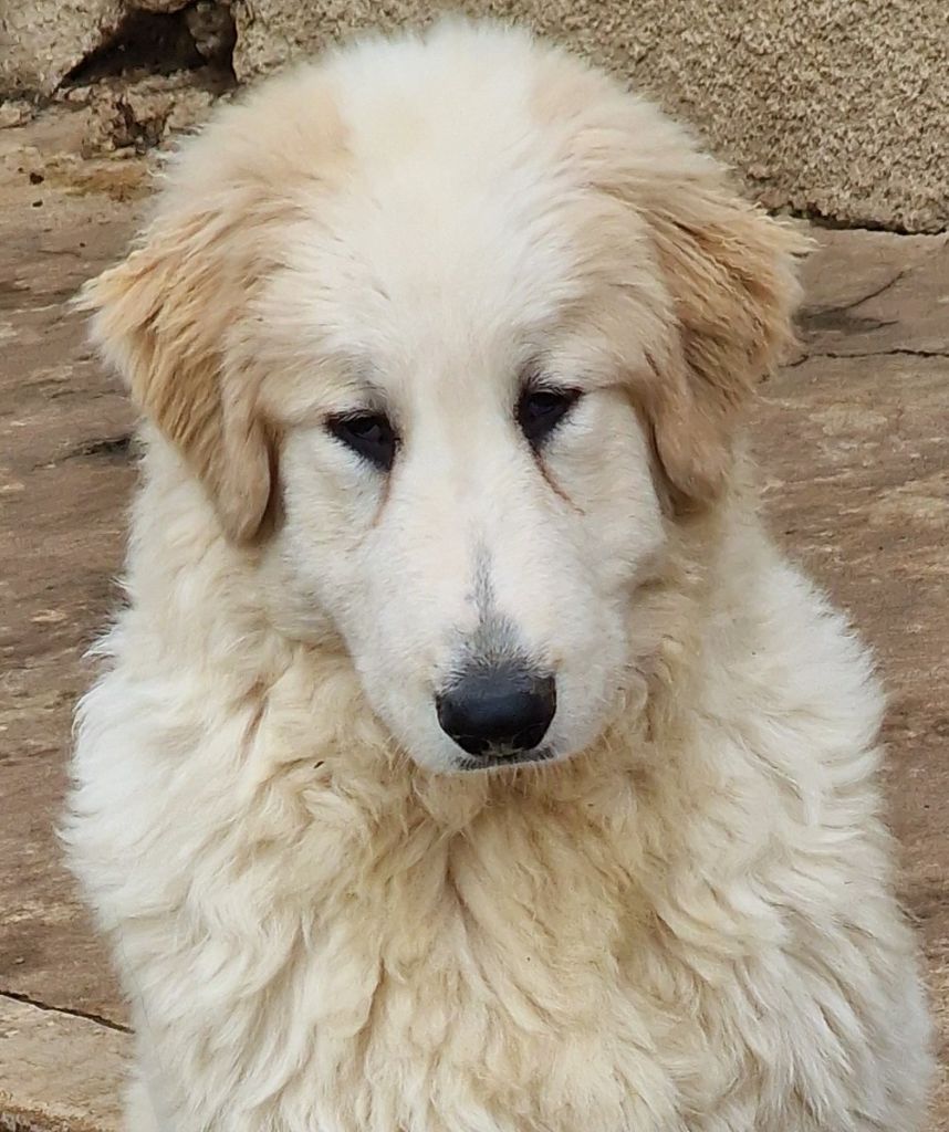
M794 256L807 247L794 229L733 196L717 171L709 181L683 179L639 206L678 331L661 360L650 359L647 412L685 507L708 503L726 481L735 426L792 338Z

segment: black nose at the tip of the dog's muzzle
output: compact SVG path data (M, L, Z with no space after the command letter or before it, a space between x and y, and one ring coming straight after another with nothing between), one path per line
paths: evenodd
M469 755L530 751L557 710L553 676L514 664L472 668L436 703L442 730Z

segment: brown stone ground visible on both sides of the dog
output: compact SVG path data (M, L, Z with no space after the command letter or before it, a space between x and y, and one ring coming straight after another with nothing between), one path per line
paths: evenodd
M76 157L79 120L63 106L0 132L0 1129L42 1132L112 1132L129 1044L53 832L89 678L82 653L120 600L134 481L131 411L66 302L121 252L146 183L140 158ZM755 421L764 504L874 644L890 689L901 895L944 1065L949 243L817 234L802 348L763 387ZM949 1132L949 1081L930 1132Z

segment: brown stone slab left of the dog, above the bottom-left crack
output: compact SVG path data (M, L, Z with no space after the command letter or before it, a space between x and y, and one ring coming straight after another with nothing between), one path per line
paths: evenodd
M144 170L76 158L59 118L0 134L0 990L120 1022L54 824L82 653L118 600L132 415L67 303L127 240Z

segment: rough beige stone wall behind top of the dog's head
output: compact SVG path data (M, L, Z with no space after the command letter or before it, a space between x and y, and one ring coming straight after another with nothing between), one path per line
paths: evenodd
M206 28L217 28L215 50L226 42L239 82L354 29L416 25L443 10L425 0L0 0L0 93L51 95L96 49L108 57L132 5L160 14L139 28L166 35L168 52L187 55L190 36L194 66L207 57ZM949 224L946 0L452 7L525 20L610 67L692 122L768 207L897 231Z

